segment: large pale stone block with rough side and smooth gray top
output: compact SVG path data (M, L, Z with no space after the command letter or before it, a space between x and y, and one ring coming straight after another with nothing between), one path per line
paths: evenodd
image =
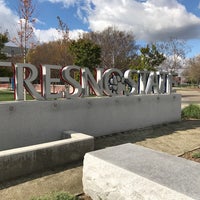
M84 192L93 200L200 197L200 164L133 144L87 153Z

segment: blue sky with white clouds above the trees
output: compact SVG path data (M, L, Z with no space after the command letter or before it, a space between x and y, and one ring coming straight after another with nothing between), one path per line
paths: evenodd
M184 39L188 57L200 54L200 0L32 0L36 5L35 37L39 42L57 40L57 16L70 28L71 38L84 31L108 26L131 31L139 44ZM17 32L18 0L0 0L0 31Z

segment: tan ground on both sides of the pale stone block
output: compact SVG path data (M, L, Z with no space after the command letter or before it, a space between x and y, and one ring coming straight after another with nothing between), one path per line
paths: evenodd
M135 143L158 151L179 155L200 147L200 120L187 120L149 127L95 139L95 149ZM82 163L34 174L1 186L4 200L28 200L52 191L82 193ZM4 188L3 188L4 187Z

